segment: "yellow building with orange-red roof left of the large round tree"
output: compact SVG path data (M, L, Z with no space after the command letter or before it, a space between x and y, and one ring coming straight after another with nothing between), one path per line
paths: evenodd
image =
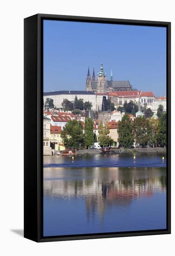
M65 149L61 139L61 126L50 126L50 145L55 151Z

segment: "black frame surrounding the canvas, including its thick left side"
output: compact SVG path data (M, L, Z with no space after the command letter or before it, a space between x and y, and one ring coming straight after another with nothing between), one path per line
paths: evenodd
M167 29L167 229L43 237L43 20L166 27ZM36 14L24 19L24 237L35 242L146 236L171 232L171 23Z

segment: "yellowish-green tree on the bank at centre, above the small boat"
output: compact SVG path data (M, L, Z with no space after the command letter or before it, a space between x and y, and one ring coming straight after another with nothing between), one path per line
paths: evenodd
M110 146L112 144L113 140L109 137L110 131L109 131L108 124L105 124L103 126L103 123L101 121L100 125L99 125L98 132L99 132L98 141L100 142L100 145L103 147Z

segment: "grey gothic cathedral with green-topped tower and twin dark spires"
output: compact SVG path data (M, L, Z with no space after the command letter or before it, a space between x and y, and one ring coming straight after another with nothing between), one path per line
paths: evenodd
M113 74L111 70L110 81L107 80L107 75L103 70L103 63L101 62L100 72L97 73L97 80L95 79L95 72L91 79L89 67L86 79L86 91L94 93L107 93L114 91L132 91L132 86L129 81L113 81Z

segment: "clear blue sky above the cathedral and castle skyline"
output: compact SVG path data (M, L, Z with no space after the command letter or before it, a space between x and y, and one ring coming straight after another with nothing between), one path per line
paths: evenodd
M44 92L85 90L101 61L110 80L166 96L166 28L44 20Z

